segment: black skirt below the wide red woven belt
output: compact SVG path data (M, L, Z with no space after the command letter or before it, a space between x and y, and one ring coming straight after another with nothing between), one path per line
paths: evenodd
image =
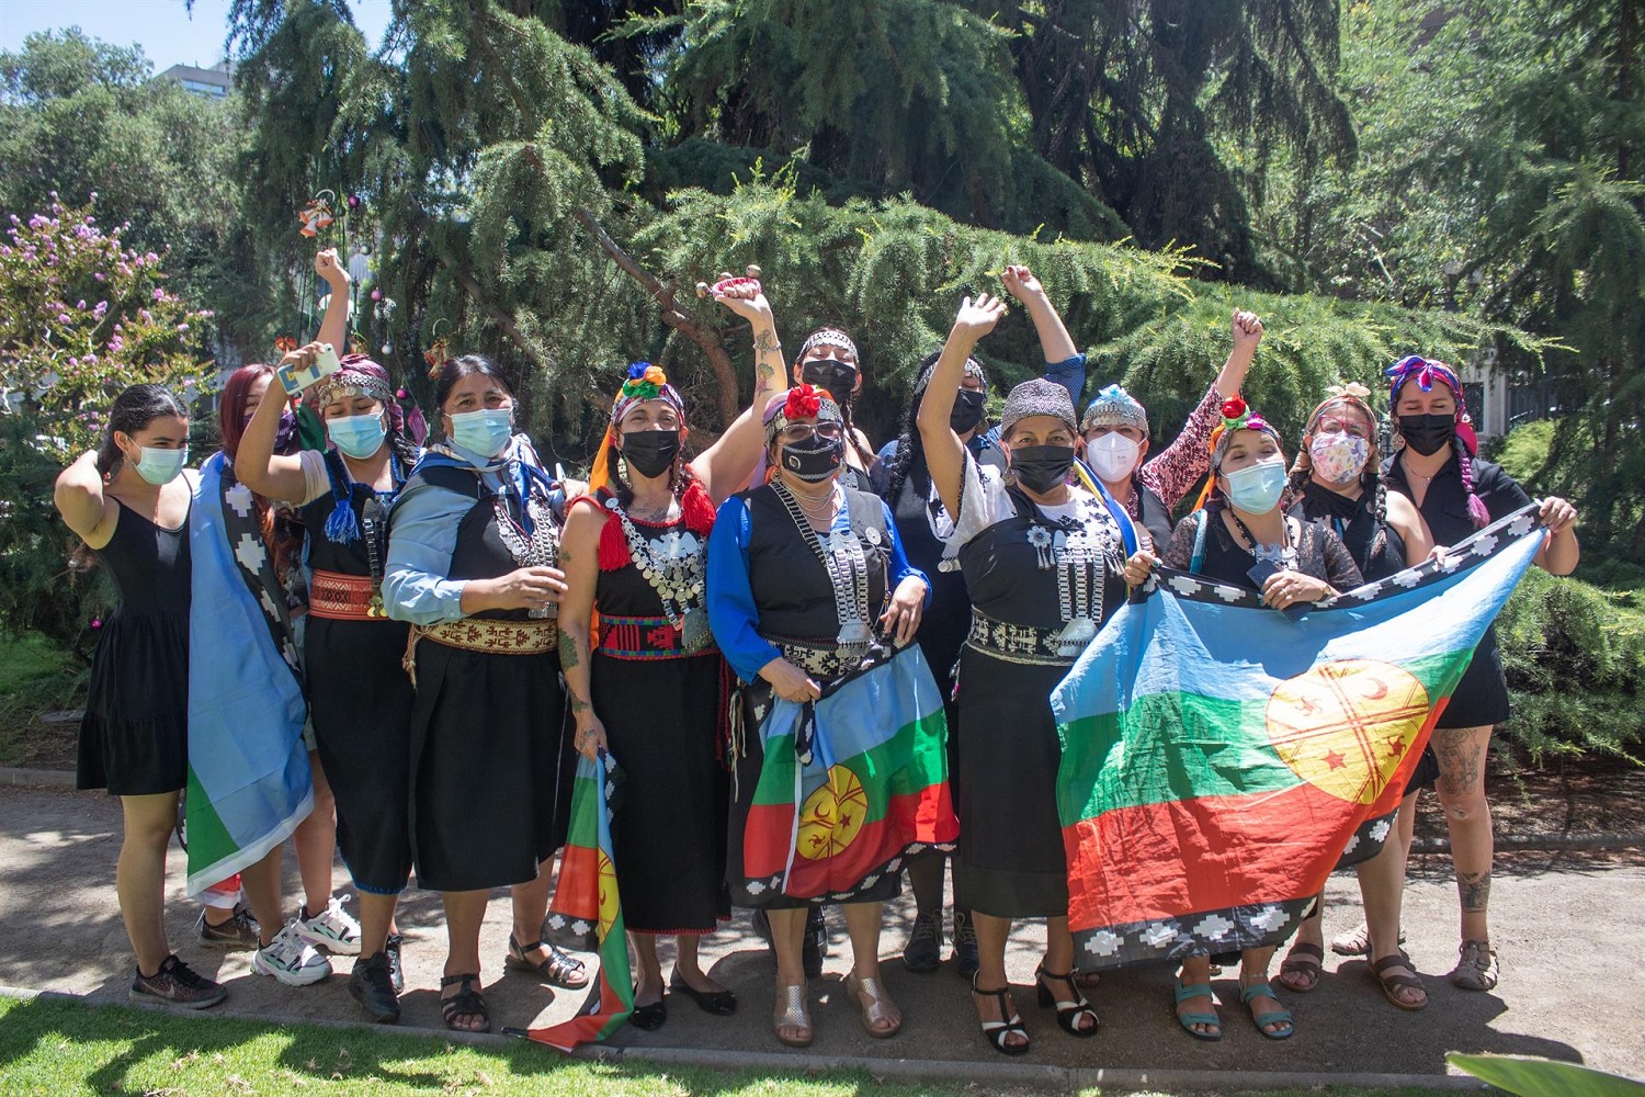
M314 745L337 799L337 845L354 886L370 895L398 895L411 875L415 692L400 666L408 628L311 613L303 643Z

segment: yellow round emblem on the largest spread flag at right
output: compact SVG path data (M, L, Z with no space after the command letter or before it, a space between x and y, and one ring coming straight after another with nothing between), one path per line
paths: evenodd
M1323 663L1268 697L1268 738L1296 776L1337 799L1370 804L1430 707L1423 684L1393 663Z

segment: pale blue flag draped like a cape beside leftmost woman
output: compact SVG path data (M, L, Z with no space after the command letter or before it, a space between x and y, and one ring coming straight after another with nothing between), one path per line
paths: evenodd
M308 701L252 492L222 454L189 507L189 895L262 860L314 808Z

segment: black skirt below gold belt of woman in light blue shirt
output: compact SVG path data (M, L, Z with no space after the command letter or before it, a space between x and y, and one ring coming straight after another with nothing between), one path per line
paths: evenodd
M411 711L411 855L418 886L477 891L533 880L564 842L572 771L559 656L489 655L424 638ZM566 773L563 773L566 770Z

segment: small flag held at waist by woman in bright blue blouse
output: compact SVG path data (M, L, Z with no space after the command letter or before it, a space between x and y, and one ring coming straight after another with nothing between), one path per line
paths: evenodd
M809 704L775 699L730 867L739 905L780 895L847 901L959 835L943 694L916 645Z

